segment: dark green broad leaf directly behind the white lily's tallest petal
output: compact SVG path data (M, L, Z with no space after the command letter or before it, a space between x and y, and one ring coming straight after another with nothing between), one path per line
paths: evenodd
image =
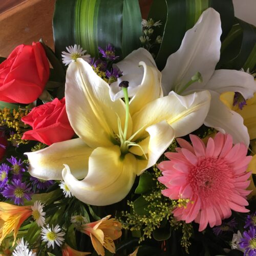
M164 22L163 39L156 57L160 70L164 68L168 56L179 49L185 32L196 24L207 8L212 7L220 13L223 36L232 27L234 12L231 0L165 0L165 2L167 13L161 11L164 10L164 1L154 0L148 16L155 21L160 19ZM157 8L158 3L161 5L159 8Z

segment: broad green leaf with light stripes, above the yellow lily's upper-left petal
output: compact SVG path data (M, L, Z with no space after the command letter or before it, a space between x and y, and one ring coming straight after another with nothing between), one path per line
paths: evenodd
M121 58L140 46L141 14L137 0L57 0L53 17L55 51L80 45L93 57L112 44Z

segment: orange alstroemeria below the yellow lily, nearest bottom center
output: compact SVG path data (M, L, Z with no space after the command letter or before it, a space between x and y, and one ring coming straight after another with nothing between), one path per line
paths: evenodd
M122 236L122 225L115 219L110 219L111 215L103 219L88 224L80 225L77 229L91 237L93 247L98 255L104 256L105 247L115 253L116 247L114 240Z

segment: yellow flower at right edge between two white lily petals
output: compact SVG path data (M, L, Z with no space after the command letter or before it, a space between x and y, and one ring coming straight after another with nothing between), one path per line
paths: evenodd
M256 93L252 98L246 100L246 105L243 106L242 110L239 109L238 105L233 106L234 92L222 93L220 99L230 110L236 111L243 117L250 140L256 139Z

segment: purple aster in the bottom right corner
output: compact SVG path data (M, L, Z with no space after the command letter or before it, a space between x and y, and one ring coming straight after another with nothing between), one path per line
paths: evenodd
M248 231L244 231L239 245L245 249L244 256L256 255L256 227L250 227Z

